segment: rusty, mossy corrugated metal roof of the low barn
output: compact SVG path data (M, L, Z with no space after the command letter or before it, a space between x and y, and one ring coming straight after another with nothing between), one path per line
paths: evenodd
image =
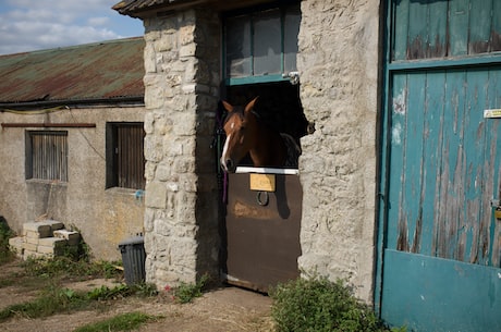
M0 103L144 97L143 37L0 56Z

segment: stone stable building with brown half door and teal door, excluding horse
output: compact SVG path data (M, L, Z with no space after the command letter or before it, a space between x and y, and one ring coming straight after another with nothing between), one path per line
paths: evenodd
M114 9L145 26L148 281L318 273L411 331L501 329L499 1ZM255 97L296 170L221 173L220 101Z

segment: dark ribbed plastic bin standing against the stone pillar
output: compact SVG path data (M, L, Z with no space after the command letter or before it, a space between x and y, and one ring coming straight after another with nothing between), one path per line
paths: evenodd
M145 281L145 241L143 236L133 236L119 244L122 254L123 273L127 285Z

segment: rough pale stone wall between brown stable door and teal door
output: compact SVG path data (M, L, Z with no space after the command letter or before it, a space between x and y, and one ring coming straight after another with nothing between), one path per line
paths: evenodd
M300 268L349 278L371 300L379 1L306 0L301 9L301 100L316 132L302 138Z

